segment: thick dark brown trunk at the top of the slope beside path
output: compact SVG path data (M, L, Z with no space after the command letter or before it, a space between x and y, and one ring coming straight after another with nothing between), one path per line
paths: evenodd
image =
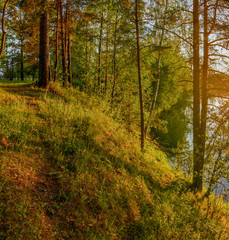
M39 54L39 82L38 86L48 88L49 84L49 12L48 0L41 2L40 17L40 54Z

